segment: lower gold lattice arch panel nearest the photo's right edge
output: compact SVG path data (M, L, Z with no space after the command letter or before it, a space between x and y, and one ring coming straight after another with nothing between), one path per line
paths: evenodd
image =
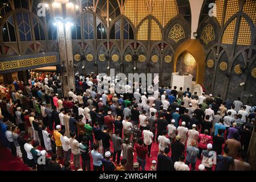
M251 28L245 18L241 18L238 38L238 45L250 46L251 44Z

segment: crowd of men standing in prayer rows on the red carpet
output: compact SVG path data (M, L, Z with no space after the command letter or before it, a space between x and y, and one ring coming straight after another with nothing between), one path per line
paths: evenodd
M18 79L13 86L0 84L0 137L32 170L90 171L92 158L95 171L143 171L155 142L159 153L152 171L195 170L197 159L201 171L250 170L247 149L256 107L240 98L223 101L176 86L127 93L129 82L116 94L119 78L95 73L76 73L75 88L63 97L60 75L31 71L30 76L27 84ZM109 84L102 93L100 81Z

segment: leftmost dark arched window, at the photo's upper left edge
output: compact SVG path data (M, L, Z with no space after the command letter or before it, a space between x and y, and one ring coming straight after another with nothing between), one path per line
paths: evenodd
M9 16L3 26L3 42L16 42L16 34L13 22L13 15Z

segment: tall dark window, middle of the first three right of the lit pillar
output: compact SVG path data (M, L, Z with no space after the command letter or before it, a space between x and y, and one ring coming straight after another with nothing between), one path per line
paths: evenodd
M89 13L83 15L83 31L84 39L94 39L94 15Z

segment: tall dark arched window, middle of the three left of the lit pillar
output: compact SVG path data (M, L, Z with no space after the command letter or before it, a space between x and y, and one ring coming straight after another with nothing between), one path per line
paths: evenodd
M31 23L29 19L29 14L25 12L17 13L17 21L19 28L19 36L21 41L31 41Z

